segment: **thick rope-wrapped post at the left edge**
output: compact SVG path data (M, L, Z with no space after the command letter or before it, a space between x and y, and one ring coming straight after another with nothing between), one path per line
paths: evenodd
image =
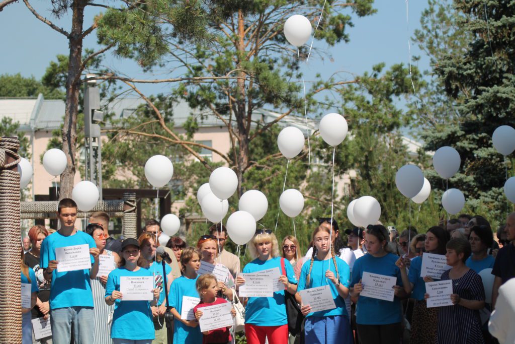
M0 333L3 343L22 342L20 279L20 141L0 138Z

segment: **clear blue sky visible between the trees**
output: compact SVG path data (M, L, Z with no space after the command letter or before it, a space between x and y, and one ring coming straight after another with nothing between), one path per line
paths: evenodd
M48 11L49 1L31 0L31 4L57 26L69 30L71 14L57 20ZM406 22L406 0L376 0L374 7L377 13L353 20L355 26L348 29L350 34L348 44L341 43L328 49L327 45L315 41L314 48L329 53L331 58L321 60L320 55L314 54L310 58L310 64L303 66L306 80L317 72L322 76L329 76L337 71L362 74L364 71L370 71L372 65L380 62L385 62L387 66L399 62L406 64L408 37L413 36L413 30L420 27L420 14L427 6L427 2L411 0L408 5L409 24ZM97 12L96 7L87 11L84 27L91 24ZM68 54L64 36L37 20L21 1L0 12L0 32L8 32L2 38L0 74L21 73L24 76L33 75L40 78L48 63L55 60L57 54ZM85 39L84 47L98 47L95 35L89 35ZM411 55L421 55L413 44L411 44ZM428 68L427 57L422 56L418 63L422 70ZM155 71L155 74L144 74L133 61L118 59L109 54L106 55L105 64L126 75L138 78L159 78L166 72ZM344 77L351 78L352 75L348 74ZM145 85L141 89L147 94L159 93L165 90L165 86Z

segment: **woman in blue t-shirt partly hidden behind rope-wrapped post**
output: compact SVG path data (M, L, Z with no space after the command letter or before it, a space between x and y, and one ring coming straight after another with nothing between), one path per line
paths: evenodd
M23 248L22 251L22 260L21 260L21 278L22 278L22 299L24 299L24 287L27 287L25 290L26 293L30 294L30 308L23 307L24 302L22 300L22 344L32 344L32 323L31 318L32 314L30 310L36 305L37 293L39 291L38 288L38 280L36 279L36 273L34 270L30 269L25 263ZM25 286L24 286L25 285ZM28 301L28 300L27 300ZM28 305L28 304L27 304Z

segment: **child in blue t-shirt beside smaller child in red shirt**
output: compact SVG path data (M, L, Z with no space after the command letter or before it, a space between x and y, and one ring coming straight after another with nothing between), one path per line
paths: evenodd
M198 249L188 247L182 251L181 265L183 275L175 279L171 284L168 294L168 302L171 308L171 314L174 315L174 343L200 343L202 342L202 334L198 327L198 320L195 317L191 319L183 319L181 314L183 307L183 298L197 298L198 292L196 282L198 279L197 271L200 268L200 252ZM200 299L198 299L200 302Z

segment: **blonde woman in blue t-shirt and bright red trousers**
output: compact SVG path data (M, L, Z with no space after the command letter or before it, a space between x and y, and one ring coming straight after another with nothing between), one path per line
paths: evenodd
M279 244L271 230L256 230L254 237L247 244L252 257L256 257L243 268L243 273L279 269L279 282L286 290L295 294L297 280L291 264L279 256ZM281 262L282 260L282 262ZM285 271L283 273L282 271ZM273 297L251 297L245 307L245 337L248 344L284 344L288 341L288 321L284 302L284 290L276 287L273 281ZM245 283L243 276L236 278L236 286Z

